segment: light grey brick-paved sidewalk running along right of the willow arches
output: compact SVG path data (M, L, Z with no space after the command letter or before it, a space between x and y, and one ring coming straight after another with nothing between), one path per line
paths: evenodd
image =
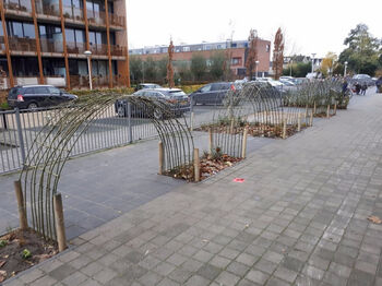
M5 285L382 285L382 95L356 103Z

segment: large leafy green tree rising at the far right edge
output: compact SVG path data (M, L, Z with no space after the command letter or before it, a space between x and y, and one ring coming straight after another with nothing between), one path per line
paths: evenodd
M348 62L349 70L356 73L367 73L373 75L378 69L381 57L381 41L372 37L369 27L365 24L358 24L351 29L344 45L348 46L341 55L339 61Z

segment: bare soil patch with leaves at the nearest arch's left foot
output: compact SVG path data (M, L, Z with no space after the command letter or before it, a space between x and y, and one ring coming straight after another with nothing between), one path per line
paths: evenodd
M0 237L0 283L43 262L58 252L53 241L46 241L34 230L14 230Z

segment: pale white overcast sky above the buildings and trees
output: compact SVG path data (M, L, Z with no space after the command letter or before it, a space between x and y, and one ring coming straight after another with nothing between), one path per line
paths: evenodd
M285 56L337 55L357 24L382 38L382 0L127 0L129 48L247 39L251 28L273 43L278 27Z

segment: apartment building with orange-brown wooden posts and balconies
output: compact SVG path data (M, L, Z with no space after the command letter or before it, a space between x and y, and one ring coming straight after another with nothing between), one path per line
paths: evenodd
M2 87L130 85L126 0L0 0Z

